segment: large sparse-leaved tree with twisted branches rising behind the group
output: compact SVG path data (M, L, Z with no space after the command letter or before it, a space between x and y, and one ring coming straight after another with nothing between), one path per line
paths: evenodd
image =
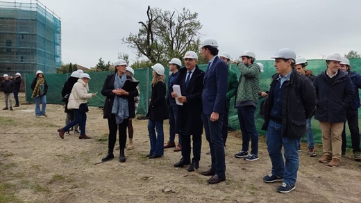
M167 63L170 58L182 58L186 51L199 50L202 28L198 13L183 8L162 11L148 6L146 22L138 22L141 27L137 34L131 33L122 41L137 51L137 56L146 56L151 63Z

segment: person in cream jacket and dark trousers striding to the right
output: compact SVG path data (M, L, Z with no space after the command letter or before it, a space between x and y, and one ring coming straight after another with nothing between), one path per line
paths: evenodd
M87 73L83 73L78 79L72 88L72 92L69 95L69 101L67 104L68 109L72 109L74 112L74 120L69 122L65 127L58 129L60 138L64 139L64 133L69 131L71 127L79 124L81 128L81 133L79 139L90 139L89 136L85 134L85 125L87 122L87 99L90 99L95 96L95 94L90 94L87 92L87 83L90 80L90 76Z

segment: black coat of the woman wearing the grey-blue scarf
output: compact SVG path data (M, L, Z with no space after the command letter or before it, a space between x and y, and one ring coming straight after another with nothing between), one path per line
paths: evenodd
M126 76L126 79L132 79L131 76ZM114 102L115 95L112 90L114 90L114 81L115 74L109 74L106 77L104 82L103 89L101 90L101 95L106 96L106 101L104 102L103 108L103 118L110 118L112 116L112 105ZM129 95L121 95L120 97L128 98L128 111L129 118L135 117L135 107L134 107L134 97L137 97L138 90L128 91Z

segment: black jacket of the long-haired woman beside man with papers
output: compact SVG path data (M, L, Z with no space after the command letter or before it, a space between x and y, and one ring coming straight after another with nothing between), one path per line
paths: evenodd
M168 105L165 101L165 83L158 82L151 89L151 102L146 116L152 121L163 121L168 119Z

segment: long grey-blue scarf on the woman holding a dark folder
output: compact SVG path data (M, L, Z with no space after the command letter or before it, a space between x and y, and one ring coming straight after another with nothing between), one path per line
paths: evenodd
M121 77L118 75L118 73L115 74L115 80L114 80L115 90L119 88L123 88L125 82L126 82L126 74L123 74ZM128 99L115 95L112 106L112 114L115 114L115 122L117 124L121 124L121 122L123 122L124 119L128 118L129 117Z

